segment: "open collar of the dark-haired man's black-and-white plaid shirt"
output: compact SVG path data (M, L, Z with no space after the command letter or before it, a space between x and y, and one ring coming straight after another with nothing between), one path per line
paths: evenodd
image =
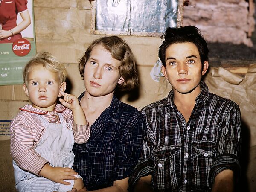
M201 91L199 95L196 97L195 103L198 104L202 102L205 105L209 97L209 89L207 84L205 84L203 81L201 81L200 86L201 86ZM173 96L174 96L174 92L173 90L171 90L167 96L166 101L163 103L163 107L171 106L172 108L176 108L176 105L173 102Z

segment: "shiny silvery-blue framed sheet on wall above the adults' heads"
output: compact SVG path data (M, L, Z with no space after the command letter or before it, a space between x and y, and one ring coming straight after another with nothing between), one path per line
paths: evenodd
M183 0L95 0L91 3L91 33L161 37L167 27L181 25L183 3Z

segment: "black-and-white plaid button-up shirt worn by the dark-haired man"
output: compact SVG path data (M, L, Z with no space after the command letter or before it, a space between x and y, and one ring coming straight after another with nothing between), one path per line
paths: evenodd
M186 123L169 96L142 109L147 132L129 190L142 176L152 175L156 192L208 192L224 169L240 174L241 115L236 103L201 93Z

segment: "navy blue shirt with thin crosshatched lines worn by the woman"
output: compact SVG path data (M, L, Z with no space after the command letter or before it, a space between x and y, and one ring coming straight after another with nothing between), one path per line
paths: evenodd
M84 93L79 100L82 96ZM143 115L113 96L90 131L87 143L75 143L73 147L73 169L83 177L87 190L113 186L113 181L129 177L140 157L145 135Z

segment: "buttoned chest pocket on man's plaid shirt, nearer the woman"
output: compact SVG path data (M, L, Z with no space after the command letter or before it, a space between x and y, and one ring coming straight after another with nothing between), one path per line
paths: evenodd
M180 145L163 145L153 151L154 174L153 186L158 190L172 190L178 186L180 173L175 172L180 167Z

